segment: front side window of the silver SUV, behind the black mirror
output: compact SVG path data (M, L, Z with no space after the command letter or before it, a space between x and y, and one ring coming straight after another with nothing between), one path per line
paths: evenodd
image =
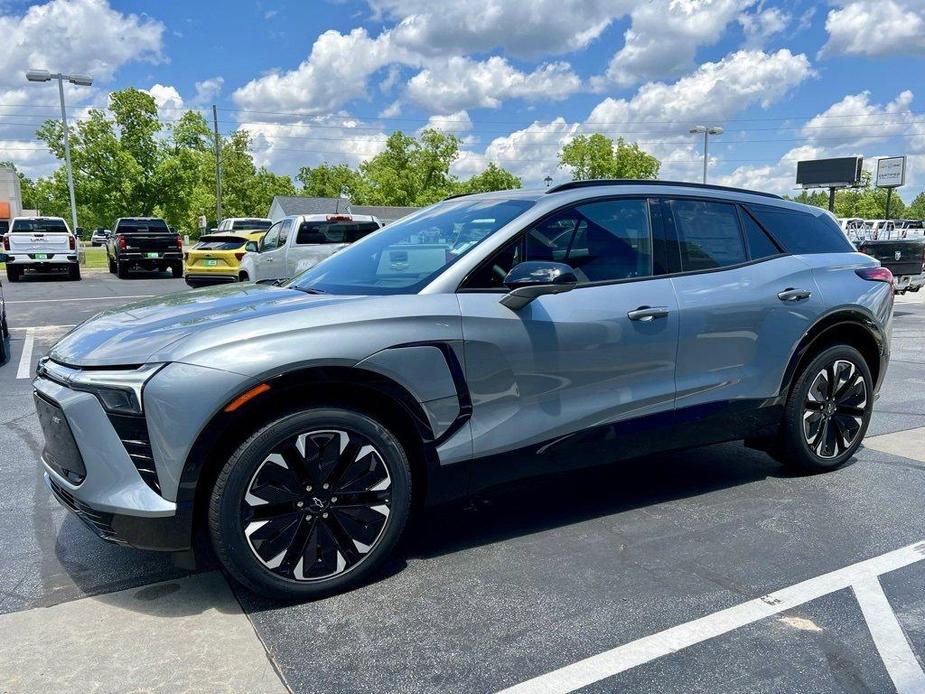
M496 289L517 263L551 260L570 265L579 282L652 274L652 238L645 200L604 200L547 217L482 265L467 289Z

